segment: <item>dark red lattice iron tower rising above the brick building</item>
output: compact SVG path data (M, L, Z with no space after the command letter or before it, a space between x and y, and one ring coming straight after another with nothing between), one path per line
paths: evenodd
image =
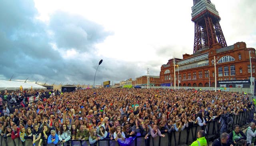
M227 43L220 27L220 16L210 0L193 0L192 21L195 23L194 53L212 48L219 43L226 47Z

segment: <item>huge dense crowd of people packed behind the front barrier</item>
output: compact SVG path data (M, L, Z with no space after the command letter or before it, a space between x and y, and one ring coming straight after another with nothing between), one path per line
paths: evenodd
M39 100L31 102L28 99L31 96ZM2 104L8 98L19 103L14 112ZM20 138L22 142L31 139L32 144L42 146L43 141L63 145L68 140L89 140L93 145L102 139L129 144L136 136L143 136L147 143L149 136L164 137L164 133L194 125L205 132L206 124L212 120L222 124L222 135L233 122L232 118L227 122L223 115L254 108L254 102L246 94L236 92L100 88L65 93L58 90L2 93L1 106L1 136Z

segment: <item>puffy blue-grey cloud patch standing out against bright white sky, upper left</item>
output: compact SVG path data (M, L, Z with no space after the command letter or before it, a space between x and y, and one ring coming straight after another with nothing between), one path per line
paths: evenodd
M91 51L93 44L102 42L110 32L104 31L99 24L82 16L57 11L50 19L50 29L58 48L76 48L80 51Z

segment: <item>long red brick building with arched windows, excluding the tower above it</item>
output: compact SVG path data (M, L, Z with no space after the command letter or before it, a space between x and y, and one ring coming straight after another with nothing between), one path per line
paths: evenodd
M256 56L254 48L247 48L244 42L222 48L215 44L212 48L200 50L192 55L183 54L182 59L175 58L176 86L214 87L214 56L216 58L216 78L221 80L250 79L250 57L252 77L255 78ZM161 86L174 86L174 59L161 66ZM210 73L210 74L209 74ZM232 87L232 86L227 86Z

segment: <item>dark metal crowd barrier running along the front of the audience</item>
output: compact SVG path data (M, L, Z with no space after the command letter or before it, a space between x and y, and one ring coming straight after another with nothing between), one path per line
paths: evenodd
M232 116L234 122L231 125L228 125L227 132L230 133L233 130L233 126L238 124L240 130L246 129L250 126L250 122L254 121L254 109L248 111L240 112L238 115ZM207 141L214 140L220 136L221 123L218 120L213 120L208 122L207 125L203 128L206 131ZM136 137L134 142L130 146L179 146L179 145L190 145L197 138L198 130L201 130L200 126L188 127L180 132L164 133L165 137L152 138L149 136L147 140L144 139L144 136ZM10 137L3 138L0 135L0 144L1 146L32 146L32 140L26 139L24 145L19 138L12 140ZM58 146L59 144L57 144ZM36 144L38 146L38 144ZM54 144L47 144L47 140L43 140L41 146L55 146ZM60 144L62 146L62 143ZM64 146L90 146L89 141L78 141L78 140L69 140L64 143ZM115 140L104 139L98 140L97 146L120 146Z

